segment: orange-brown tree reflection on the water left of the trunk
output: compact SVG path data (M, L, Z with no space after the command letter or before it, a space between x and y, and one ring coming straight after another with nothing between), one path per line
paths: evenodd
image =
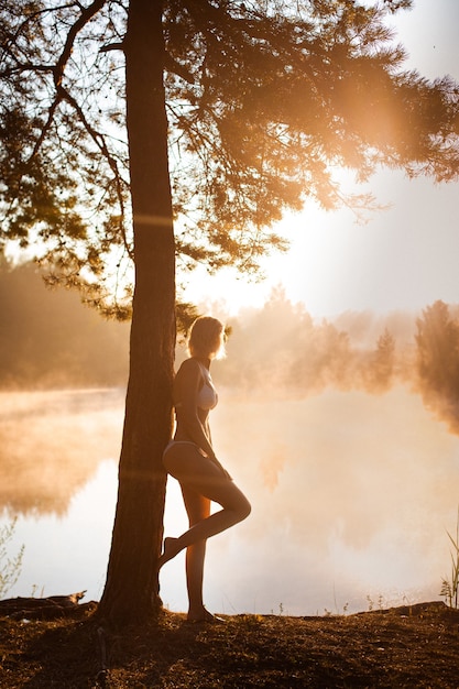
M0 393L0 510L64 515L117 457L123 391Z

